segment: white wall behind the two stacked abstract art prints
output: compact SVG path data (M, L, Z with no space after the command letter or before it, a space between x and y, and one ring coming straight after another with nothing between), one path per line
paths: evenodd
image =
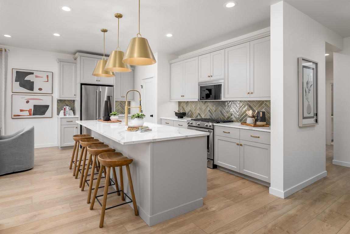
M25 126L34 125L36 148L57 146L57 58L73 60L73 55L52 53L41 50L32 50L10 46L0 46L8 49L7 89L5 128L2 134L10 134ZM38 71L52 71L52 118L11 118L12 68ZM33 94L36 95L36 94ZM47 94L51 95L51 94Z

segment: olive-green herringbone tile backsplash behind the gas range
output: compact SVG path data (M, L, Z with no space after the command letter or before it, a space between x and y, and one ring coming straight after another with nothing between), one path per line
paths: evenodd
M266 124L271 125L271 101L198 101L179 102L179 110L188 118L229 119L246 122L246 111L265 111Z

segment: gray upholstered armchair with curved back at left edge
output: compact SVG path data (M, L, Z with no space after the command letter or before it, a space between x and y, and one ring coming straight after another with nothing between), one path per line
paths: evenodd
M34 126L0 136L0 175L34 166Z

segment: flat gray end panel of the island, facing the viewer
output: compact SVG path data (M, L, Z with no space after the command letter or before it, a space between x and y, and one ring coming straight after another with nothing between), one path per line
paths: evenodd
M207 136L153 143L152 215L165 218L166 213L171 216L191 211L200 202L199 207L203 206L202 198L207 195L206 149Z

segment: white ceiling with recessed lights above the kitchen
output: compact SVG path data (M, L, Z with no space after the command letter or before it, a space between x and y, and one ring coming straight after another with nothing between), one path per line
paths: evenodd
M270 26L280 0L141 0L140 34L152 51L182 55ZM342 37L350 36L350 0L285 0ZM59 6L70 6L71 12ZM138 0L0 0L0 44L64 54L125 51L138 33ZM62 36L56 37L52 33ZM172 33L173 37L165 34ZM4 37L9 34L12 37Z

